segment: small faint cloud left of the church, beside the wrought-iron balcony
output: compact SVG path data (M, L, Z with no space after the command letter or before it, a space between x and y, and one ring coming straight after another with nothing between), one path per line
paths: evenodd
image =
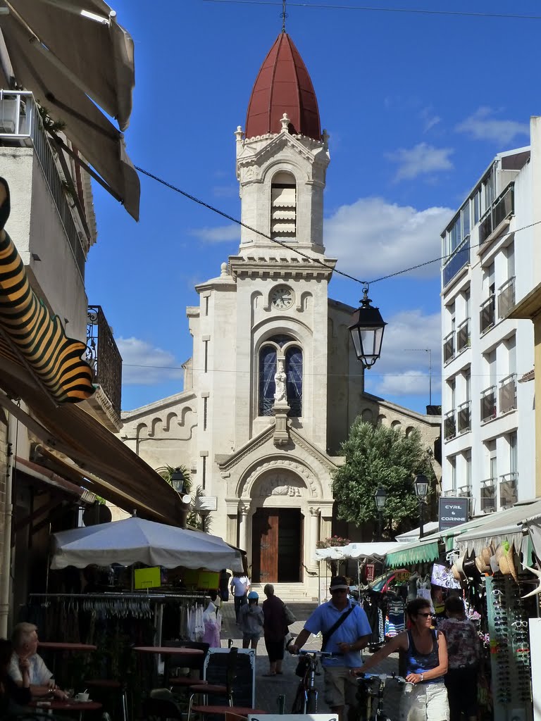
M168 350L133 336L117 338L116 344L122 356L123 385L151 386L173 379L181 380L184 376L180 363Z

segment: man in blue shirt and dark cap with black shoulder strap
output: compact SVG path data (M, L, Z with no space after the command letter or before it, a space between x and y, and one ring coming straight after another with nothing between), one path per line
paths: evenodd
M304 624L304 629L296 637L294 644L289 645L290 653L298 653L299 649L309 639L310 634L322 632L325 634L332 629L335 623L344 614L348 614L353 606L348 598L348 583L343 576L336 576L330 580L330 601L322 603ZM350 675L351 668L358 668L361 663L361 648L364 648L371 636L371 627L361 606L353 606L346 619L331 634L327 640L325 651L332 653L322 660L325 672L325 701L330 708L343 715L343 709L348 704L348 717L351 721L356 718L357 681Z

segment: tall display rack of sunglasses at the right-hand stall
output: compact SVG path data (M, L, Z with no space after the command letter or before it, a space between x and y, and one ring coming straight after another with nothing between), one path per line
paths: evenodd
M528 604L512 576L485 577L494 721L532 718ZM522 709L522 710L521 710Z

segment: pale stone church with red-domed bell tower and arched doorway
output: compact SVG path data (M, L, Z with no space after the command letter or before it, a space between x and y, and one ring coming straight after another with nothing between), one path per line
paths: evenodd
M348 332L354 309L328 295L337 262L323 247L329 136L286 32L234 135L238 254L195 288L183 391L124 412L119 435L154 469L190 469L213 508L208 530L247 551L252 583L278 584L278 595L294 584L296 598L314 598L314 552L335 532L332 477L353 420L419 428L433 448L441 419L364 393Z

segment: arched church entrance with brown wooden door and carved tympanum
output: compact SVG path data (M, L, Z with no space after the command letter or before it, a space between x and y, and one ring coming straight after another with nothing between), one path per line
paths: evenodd
M301 583L310 491L291 467L260 474L250 489L252 580Z

